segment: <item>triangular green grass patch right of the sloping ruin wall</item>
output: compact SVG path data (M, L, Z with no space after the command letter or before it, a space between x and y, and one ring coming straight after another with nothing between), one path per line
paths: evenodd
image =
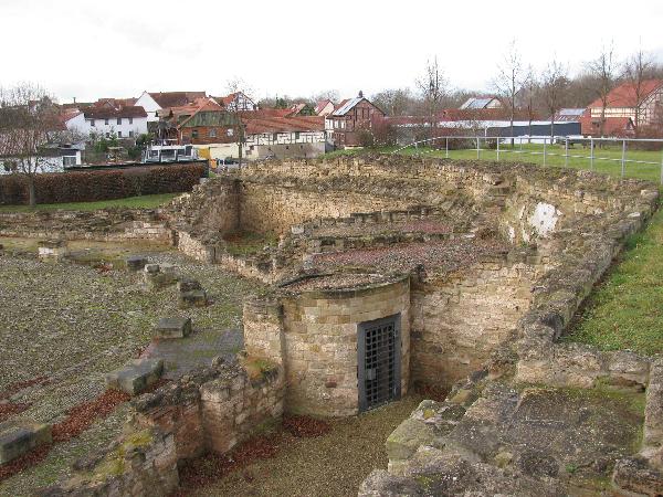
M603 350L663 352L663 210L644 232L629 239L619 264L562 340Z

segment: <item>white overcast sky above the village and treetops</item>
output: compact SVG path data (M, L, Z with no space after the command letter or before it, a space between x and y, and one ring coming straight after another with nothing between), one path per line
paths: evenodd
M600 6L600 7L599 7ZM438 56L451 84L488 88L512 39L543 67L578 71L602 44L663 57L661 0L0 0L0 86L41 84L60 98L144 89L254 97L413 86Z

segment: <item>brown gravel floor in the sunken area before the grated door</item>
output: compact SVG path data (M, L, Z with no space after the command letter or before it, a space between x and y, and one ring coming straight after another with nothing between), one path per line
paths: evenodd
M193 496L356 496L375 468L387 468L385 442L421 402L408 395L359 416L333 421L326 435L297 438L285 434L273 458L230 473Z

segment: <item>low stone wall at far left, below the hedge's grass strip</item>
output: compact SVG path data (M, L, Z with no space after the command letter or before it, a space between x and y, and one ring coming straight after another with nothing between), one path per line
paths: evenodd
M172 244L158 210L0 212L0 236Z

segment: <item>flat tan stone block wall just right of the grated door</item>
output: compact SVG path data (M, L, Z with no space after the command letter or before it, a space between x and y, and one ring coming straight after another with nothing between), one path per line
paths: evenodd
M541 267L495 258L412 288L412 379L444 389L465 378L516 330Z

